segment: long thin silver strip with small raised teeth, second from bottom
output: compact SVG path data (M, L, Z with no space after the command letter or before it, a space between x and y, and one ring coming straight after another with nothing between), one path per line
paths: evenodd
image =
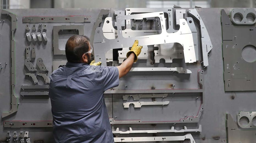
M132 130L130 127L129 130L123 132L119 131L119 128L116 128L115 131L112 131L112 133L120 133L120 134L128 134L128 133L184 133L184 132L202 132L202 125L199 125L198 129L187 129L186 126L184 126L184 129L181 130L175 130L172 126L170 130Z

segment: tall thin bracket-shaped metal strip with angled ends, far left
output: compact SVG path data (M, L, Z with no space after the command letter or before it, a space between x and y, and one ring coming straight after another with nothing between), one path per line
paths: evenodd
M7 14L7 16L11 17L11 86L12 86L12 94L11 94L11 109L8 113L2 113L2 118L9 116L18 110L18 101L17 97L15 96L14 86L15 86L15 40L14 40L14 33L17 27L17 16L9 11L2 10L2 14ZM4 21L4 20L3 20Z

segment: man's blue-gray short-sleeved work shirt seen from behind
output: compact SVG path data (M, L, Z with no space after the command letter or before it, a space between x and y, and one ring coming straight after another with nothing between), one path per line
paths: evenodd
M68 62L50 78L55 141L114 142L103 93L118 86L118 69Z

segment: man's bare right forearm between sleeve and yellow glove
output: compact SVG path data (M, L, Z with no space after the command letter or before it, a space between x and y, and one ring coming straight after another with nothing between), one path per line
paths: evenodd
M133 66L134 57L134 53L131 53L120 66L117 66L119 70L119 78L123 77L130 71L131 67Z

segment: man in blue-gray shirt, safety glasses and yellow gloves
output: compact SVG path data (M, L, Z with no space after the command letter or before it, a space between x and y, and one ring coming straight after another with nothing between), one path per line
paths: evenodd
M120 66L100 66L101 62L90 61L92 46L88 37L75 35L68 39L68 62L50 76L55 142L114 142L103 93L119 85L119 78L130 71L141 49L135 40Z

